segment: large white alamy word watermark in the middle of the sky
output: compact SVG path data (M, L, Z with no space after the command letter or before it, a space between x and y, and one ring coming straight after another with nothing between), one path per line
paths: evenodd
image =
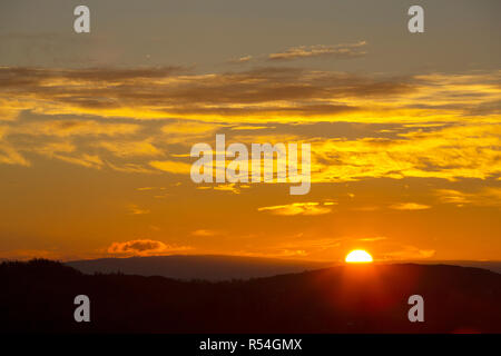
M299 172L301 154L301 172ZM200 182L291 182L291 195L305 195L311 188L311 145L301 144L252 144L250 160L247 146L230 144L226 147L224 134L216 135L216 149L208 144L191 147L190 176ZM200 157L202 156L202 157ZM226 158L232 158L227 161Z

